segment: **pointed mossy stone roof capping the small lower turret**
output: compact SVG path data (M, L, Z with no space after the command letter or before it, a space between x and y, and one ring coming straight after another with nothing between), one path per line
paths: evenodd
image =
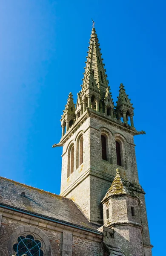
M124 195L124 194L130 194L128 189L123 185L123 181L120 177L119 169L116 169L116 175L114 177L114 180L112 182L112 185L110 186L109 190L106 192L105 197L103 198L102 202L109 199L111 196L114 195Z

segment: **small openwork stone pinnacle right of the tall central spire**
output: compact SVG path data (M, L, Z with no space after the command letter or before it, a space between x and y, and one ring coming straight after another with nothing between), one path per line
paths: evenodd
M127 123L130 117L131 126L134 128L133 116L134 116L134 108L128 98L129 95L126 94L126 90L124 89L124 85L120 84L119 96L117 97L117 106L116 113L117 119L120 120L123 117L123 122Z

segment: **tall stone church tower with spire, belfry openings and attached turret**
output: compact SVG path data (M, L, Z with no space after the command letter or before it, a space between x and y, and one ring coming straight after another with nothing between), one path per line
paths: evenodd
M54 145L63 146L60 195L71 198L90 222L113 230L126 256L151 256L133 139L144 132L134 127L134 108L123 84L114 107L94 28L87 53L82 90L76 105L69 93L62 138Z

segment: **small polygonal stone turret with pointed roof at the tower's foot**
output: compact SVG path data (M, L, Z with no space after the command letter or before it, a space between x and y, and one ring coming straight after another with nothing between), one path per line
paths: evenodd
M104 226L114 230L114 242L125 255L144 256L139 198L125 186L117 169L103 204Z

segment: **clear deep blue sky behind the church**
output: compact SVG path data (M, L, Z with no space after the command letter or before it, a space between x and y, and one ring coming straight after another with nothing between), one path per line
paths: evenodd
M114 102L123 82L135 107L140 184L153 256L165 244L166 1L0 1L0 175L60 192L60 117L76 101L92 29ZM165 229L165 230L164 230Z

